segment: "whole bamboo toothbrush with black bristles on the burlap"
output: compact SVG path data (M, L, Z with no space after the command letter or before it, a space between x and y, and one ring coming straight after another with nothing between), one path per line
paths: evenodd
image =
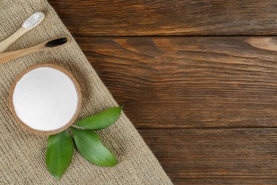
M26 56L30 53L38 52L38 51L45 51L45 50L50 50L53 48L59 48L60 46L65 46L68 43L70 43L70 38L67 36L62 36L60 38L55 38L52 41L47 41L44 43L40 43L37 46L33 46L31 48L25 48L21 49L18 51L11 51L7 53L1 53L0 54L0 64L1 63L6 63L9 60L13 60L16 58L19 58L21 56Z

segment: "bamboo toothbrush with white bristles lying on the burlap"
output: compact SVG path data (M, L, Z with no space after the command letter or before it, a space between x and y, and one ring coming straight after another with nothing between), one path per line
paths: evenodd
M45 15L43 12L36 12L35 14L31 15L29 18L24 21L21 28L16 31L16 33L13 33L9 38L6 38L4 41L1 41L0 43L0 53L4 53L9 46L11 46L12 43L14 43L18 38L23 36L24 33L27 31L30 31L31 29L38 26L41 21L43 21Z

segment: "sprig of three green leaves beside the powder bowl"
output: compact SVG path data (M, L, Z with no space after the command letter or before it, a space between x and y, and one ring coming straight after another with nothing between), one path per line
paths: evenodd
M86 117L75 123L83 128L70 127L77 150L92 164L98 166L115 166L117 159L114 154L102 144L98 134L92 130L104 129L119 118L122 107L112 107L97 115ZM67 130L48 138L46 166L48 171L60 179L69 166L73 154L73 140Z

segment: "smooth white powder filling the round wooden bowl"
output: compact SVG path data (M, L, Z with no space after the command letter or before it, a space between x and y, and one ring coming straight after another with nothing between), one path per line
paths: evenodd
M50 67L35 68L23 75L12 98L18 118L40 131L67 125L78 106L78 93L72 80Z

